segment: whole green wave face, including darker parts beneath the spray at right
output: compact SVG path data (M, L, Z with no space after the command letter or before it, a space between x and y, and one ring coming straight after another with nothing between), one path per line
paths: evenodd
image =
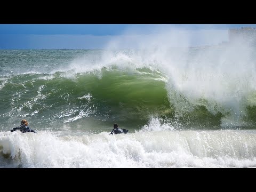
M102 68L69 74L27 74L2 79L1 117L13 124L17 118L34 119L38 127L75 123L84 118L108 125L119 122L125 127L141 127L155 117L187 130L222 129L223 121L234 115L217 101L193 100L170 89L162 73L148 68ZM248 102L243 103L246 110L241 119L247 127L253 127L255 94L249 96Z

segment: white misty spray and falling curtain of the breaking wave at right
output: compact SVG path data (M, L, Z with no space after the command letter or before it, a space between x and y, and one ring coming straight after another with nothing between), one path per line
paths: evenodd
M126 61L129 67L136 63L136 69L160 71L167 81L165 89L175 116L182 117L182 121L202 118L216 120L214 127L254 126L255 46L239 38L227 43L227 31L217 31L193 34L170 28L137 38L137 52L119 53L116 59L122 58L124 66ZM211 46L190 46L193 38ZM115 39L108 49L118 50L123 43L125 39Z

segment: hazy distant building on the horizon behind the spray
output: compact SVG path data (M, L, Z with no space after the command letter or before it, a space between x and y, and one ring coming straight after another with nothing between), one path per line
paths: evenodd
M229 42L249 42L255 44L256 42L256 28L242 27L241 29L229 29Z

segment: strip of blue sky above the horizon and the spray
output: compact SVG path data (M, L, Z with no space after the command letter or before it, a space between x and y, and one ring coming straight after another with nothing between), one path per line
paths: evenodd
M152 39L150 35L154 35L155 38L157 34L160 37L165 34L165 37L170 39L166 31L175 36L172 32L178 31L177 29L193 34L190 35L189 45L197 46L227 41L228 29L241 27L256 27L256 25L0 24L0 49L104 49L113 42L118 46L132 47L138 46L135 44L141 39L144 41ZM212 31L211 35L207 35L207 31ZM145 36L149 38L144 38ZM183 38L177 32L177 38L179 37ZM118 43L116 43L117 39Z

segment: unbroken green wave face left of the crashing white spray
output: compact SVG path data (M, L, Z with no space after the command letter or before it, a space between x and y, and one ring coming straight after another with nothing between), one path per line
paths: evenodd
M7 80L1 92L6 118L37 117L45 126L51 122L74 122L80 118L116 121L142 126L150 116L174 113L167 97L165 79L143 68L127 72L106 68L91 73L18 75ZM12 97L10 97L12 95Z

